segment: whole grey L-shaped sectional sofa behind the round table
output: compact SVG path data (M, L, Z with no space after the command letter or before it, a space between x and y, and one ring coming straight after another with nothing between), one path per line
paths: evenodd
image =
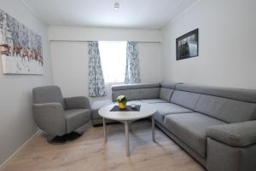
M207 170L256 170L255 90L183 83L113 86L113 101L120 94L155 105L156 126ZM102 120L96 107L92 120Z

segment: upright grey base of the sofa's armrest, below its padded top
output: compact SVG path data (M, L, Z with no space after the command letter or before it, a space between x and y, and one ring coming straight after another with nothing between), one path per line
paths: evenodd
M207 138L208 171L255 171L255 158L256 144L235 147Z

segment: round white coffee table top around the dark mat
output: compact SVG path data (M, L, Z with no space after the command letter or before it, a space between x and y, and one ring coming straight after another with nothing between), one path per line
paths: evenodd
M104 118L113 119L117 121L137 120L144 117L152 116L156 111L154 105L141 103L140 111L110 111L115 104L106 105L99 110L99 115Z

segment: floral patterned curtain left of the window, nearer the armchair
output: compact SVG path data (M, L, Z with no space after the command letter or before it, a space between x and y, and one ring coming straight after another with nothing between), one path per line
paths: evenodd
M88 48L89 48L89 96L95 97L95 96L106 95L98 42L90 41L88 43Z

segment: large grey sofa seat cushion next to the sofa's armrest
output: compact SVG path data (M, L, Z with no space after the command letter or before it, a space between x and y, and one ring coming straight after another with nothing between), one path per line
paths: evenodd
M201 113L185 113L167 115L164 120L166 128L183 143L197 152L201 157L207 155L208 127L227 124Z

